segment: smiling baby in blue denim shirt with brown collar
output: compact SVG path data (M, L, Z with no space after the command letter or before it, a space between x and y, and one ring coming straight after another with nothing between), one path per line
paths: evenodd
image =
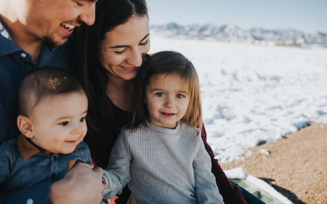
M69 74L44 68L28 74L19 89L19 137L0 146L2 193L64 177L76 161L91 163L82 142L88 99Z

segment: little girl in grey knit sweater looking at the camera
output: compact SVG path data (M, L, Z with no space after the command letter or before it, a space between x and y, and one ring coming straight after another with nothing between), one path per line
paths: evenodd
M104 198L128 183L128 203L223 203L201 139L197 72L183 55L150 56L136 77L131 124L104 171Z

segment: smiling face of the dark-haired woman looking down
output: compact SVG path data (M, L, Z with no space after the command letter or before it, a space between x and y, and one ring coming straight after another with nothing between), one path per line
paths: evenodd
M106 38L100 41L98 60L109 71L109 76L124 80L136 77L142 57L150 49L149 35L146 16L132 16L127 23L106 33Z

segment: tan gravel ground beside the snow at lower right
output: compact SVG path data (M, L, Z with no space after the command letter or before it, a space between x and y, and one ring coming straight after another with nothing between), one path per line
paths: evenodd
M241 166L295 204L327 204L327 124L311 123L250 151L253 154L244 160L221 167Z

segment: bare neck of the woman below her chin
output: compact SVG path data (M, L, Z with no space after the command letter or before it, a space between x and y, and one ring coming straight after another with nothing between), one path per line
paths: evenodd
M134 91L134 80L124 80L108 74L107 91L113 104L118 108L129 111Z

